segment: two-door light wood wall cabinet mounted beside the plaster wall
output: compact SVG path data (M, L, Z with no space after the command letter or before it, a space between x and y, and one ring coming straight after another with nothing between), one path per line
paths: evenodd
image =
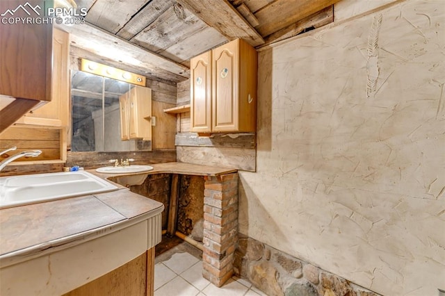
M257 51L240 39L192 58L191 131L256 131L257 67Z

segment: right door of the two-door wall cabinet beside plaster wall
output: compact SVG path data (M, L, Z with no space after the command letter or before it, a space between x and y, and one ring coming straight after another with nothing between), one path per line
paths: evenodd
M212 130L238 131L239 40L212 50Z

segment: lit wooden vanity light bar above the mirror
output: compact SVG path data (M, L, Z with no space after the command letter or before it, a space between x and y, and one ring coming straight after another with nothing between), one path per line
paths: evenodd
M125 81L140 86L145 86L145 76L124 71L122 69L118 69L115 67L103 65L100 63L92 62L91 60L87 60L85 58L81 59L81 70L83 72L88 72L99 76Z

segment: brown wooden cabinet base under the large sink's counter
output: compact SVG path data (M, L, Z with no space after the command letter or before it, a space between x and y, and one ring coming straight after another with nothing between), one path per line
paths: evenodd
M154 247L65 296L154 295Z

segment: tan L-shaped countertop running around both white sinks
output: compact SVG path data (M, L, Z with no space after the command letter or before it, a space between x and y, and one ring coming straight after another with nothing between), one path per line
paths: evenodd
M225 167L189 163L159 163L152 167L154 170L143 174L218 176L236 172ZM90 172L104 179L125 175ZM130 192L123 186L118 187L120 189L113 192L1 209L0 265L12 256L33 256L163 211L160 202Z

